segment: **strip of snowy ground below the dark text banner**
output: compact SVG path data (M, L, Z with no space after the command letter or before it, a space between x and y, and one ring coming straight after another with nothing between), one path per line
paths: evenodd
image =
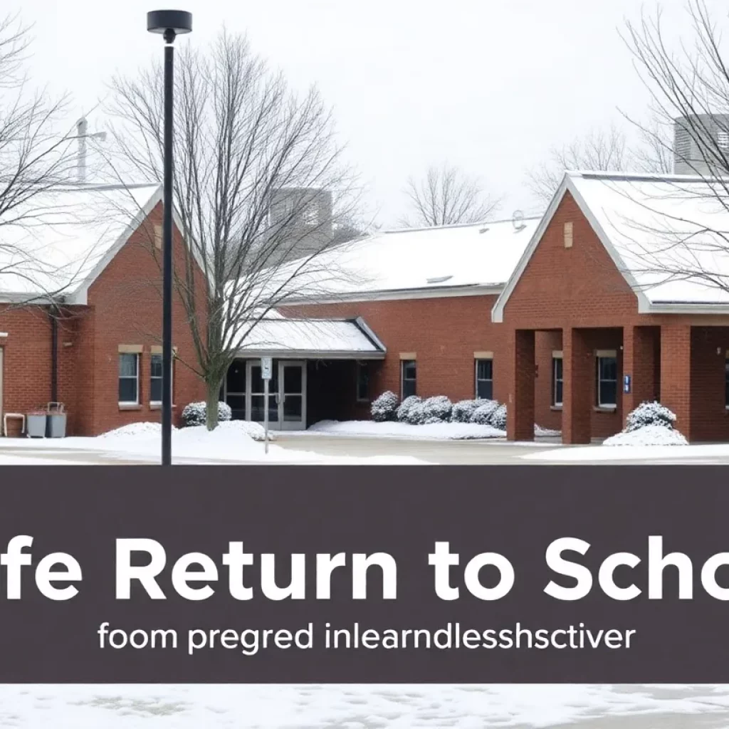
M609 724L605 717L615 720ZM729 726L728 686L1 685L23 729L537 729Z

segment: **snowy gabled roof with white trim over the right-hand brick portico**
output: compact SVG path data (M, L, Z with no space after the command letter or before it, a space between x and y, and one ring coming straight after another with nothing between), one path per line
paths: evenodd
M639 313L729 313L729 180L567 172L494 305L493 321L503 321L566 192L635 292Z

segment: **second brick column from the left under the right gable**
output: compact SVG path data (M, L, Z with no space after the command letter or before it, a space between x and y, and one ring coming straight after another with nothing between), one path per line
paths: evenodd
M595 357L585 330L562 330L562 443L590 443Z

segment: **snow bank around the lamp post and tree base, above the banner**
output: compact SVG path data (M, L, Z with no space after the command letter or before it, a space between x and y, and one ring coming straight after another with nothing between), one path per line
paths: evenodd
M180 462L230 461L232 463L310 463L310 464L422 464L410 456L324 456L310 451L292 451L272 443L268 454L255 437L263 429L244 421L221 423L209 432L205 426L175 429L172 433L172 456ZM95 451L110 458L157 461L160 456L160 425L136 423L123 426L98 437L68 437L53 439L9 438L0 443L12 450L40 449L44 451ZM12 458L12 456L2 456ZM38 459L40 461L40 459ZM44 460L45 464L50 461Z

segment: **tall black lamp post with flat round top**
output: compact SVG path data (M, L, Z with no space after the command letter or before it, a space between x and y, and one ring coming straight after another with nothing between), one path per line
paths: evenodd
M165 152L164 211L162 221L162 465L172 463L172 92L176 36L192 31L192 13L153 10L147 13L147 30L165 39Z

